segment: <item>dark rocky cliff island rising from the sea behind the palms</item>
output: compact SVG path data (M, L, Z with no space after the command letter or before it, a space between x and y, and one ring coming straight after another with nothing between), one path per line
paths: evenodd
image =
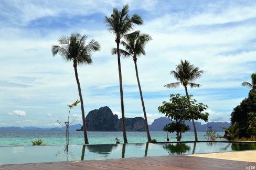
M126 131L145 131L142 117L125 118ZM108 106L91 110L86 116L87 131L122 131L122 119L114 115ZM83 127L77 131L83 131Z

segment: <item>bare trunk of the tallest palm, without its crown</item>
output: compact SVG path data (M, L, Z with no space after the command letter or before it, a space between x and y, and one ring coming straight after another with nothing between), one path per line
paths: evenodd
M123 138L124 143L128 143L125 130L125 119L124 119L124 98L123 98L123 84L122 84L122 72L121 72L121 61L119 51L120 40L116 40L116 50L118 52L118 72L119 72L119 86L120 86L120 98L121 98L121 111L122 111L122 124L123 124Z

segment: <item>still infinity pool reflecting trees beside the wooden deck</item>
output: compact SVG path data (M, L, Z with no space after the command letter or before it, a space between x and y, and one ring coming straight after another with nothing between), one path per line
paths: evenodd
M256 143L189 142L2 146L0 165L256 150Z

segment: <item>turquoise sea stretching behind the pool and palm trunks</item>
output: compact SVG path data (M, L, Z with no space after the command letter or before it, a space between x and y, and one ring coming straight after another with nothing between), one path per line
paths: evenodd
M224 135L225 132L217 132ZM115 144L116 138L120 138L123 143L123 132L95 132L88 131L89 144ZM150 132L151 139L157 142L177 141L176 133L166 133L164 131ZM199 141L206 141L206 132L197 132ZM146 132L126 132L128 143L146 143ZM65 145L66 131L0 131L0 146L31 146L31 141L43 141L46 145ZM185 132L182 134L181 141L195 141L194 132ZM84 144L83 132L69 131L69 144Z

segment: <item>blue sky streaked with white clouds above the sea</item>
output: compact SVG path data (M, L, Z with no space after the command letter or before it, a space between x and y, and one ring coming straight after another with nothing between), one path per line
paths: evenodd
M101 45L92 65L78 66L86 115L108 106L121 118L115 36L104 18L125 4L130 15L143 18L134 30L153 39L137 60L148 124L165 116L157 108L170 94L185 95L182 86L164 87L178 82L170 71L180 60L204 70L194 81L201 87L188 93L208 106L208 121L230 122L250 90L241 83L255 73L256 1L1 0L0 127L60 127L57 120L67 121L68 105L79 99L77 82L72 63L53 57L51 47L75 31ZM132 58L121 58L121 68L125 117L144 117ZM70 115L79 116L73 124L82 124L80 104Z

